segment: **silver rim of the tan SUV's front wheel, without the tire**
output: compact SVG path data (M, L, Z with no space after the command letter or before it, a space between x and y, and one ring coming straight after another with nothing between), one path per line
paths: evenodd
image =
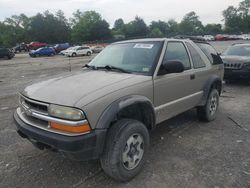
M133 134L126 142L122 153L122 163L127 170L136 168L144 154L144 141L140 134Z

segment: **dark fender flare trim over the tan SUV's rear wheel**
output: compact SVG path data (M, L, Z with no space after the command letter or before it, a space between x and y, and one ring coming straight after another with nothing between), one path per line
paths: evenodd
M213 75L212 77L210 77L204 87L203 87L203 96L202 96L202 99L201 99L201 103L199 104L199 106L204 106L207 102L207 98L208 98L208 95L209 95L209 92L213 86L214 83L219 83L219 94L221 94L221 90L222 90L222 80L219 76L217 75Z

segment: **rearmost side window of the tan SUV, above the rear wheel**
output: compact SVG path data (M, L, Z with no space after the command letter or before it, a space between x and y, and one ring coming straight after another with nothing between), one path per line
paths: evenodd
M218 55L216 50L210 44L205 44L205 43L196 43L196 44L208 57L208 59L213 65L223 64L220 55Z

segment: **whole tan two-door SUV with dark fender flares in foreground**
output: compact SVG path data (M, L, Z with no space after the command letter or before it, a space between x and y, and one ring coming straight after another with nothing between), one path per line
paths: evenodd
M100 159L108 175L128 181L141 170L157 124L192 108L200 119L215 119L223 72L206 42L118 42L79 72L26 87L14 119L38 148Z

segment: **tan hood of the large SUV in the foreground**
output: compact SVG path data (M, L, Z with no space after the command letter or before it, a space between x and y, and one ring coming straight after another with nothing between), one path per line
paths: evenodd
M149 76L119 72L87 70L60 75L26 87L22 94L28 98L65 106L82 107L84 97L90 103L119 89L149 80Z

